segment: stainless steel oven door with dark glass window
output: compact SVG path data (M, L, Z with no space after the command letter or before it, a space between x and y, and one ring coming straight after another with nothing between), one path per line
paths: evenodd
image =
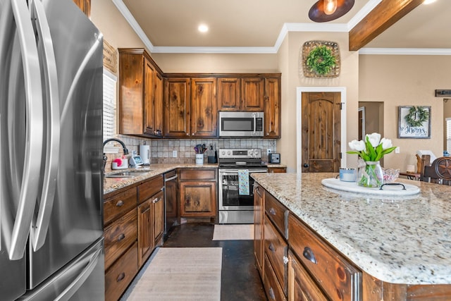
M249 195L238 192L238 169L219 169L218 209L254 210L254 179L251 173L267 173L266 168L249 170Z

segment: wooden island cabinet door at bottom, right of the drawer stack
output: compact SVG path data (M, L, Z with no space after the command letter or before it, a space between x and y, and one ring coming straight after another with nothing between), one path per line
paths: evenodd
M288 300L327 301L326 295L311 279L296 255L289 251L288 259Z

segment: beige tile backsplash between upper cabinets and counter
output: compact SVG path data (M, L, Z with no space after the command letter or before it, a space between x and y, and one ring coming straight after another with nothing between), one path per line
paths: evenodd
M221 148L259 148L261 149L262 159L268 160L266 149L271 149L271 152L276 152L276 139L144 139L140 137L133 137L128 135L117 135L119 140L125 143L125 146L131 152L134 150L137 154L140 152L140 145L150 145L151 161L150 163L194 163L196 145L216 146L216 149ZM113 145L115 142L110 142ZM108 161L106 164L106 171L111 168L111 160L122 156L122 148L118 145L119 152L117 154L106 154ZM173 151L177 152L177 156L173 157ZM205 154L206 156L207 154Z

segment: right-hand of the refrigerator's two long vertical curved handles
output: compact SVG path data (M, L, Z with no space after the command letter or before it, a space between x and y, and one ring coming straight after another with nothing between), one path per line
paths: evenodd
M46 158L44 162L44 178L42 191L40 195L39 210L37 218L33 221L31 228L31 240L33 250L36 252L44 245L47 231L49 229L50 215L54 205L56 192L56 176L58 173L59 157L59 97L58 97L58 78L56 77L56 59L54 46L51 41L49 23L45 15L44 6L39 0L32 1L30 4L32 17L35 16L35 26L37 35L40 37L38 46L42 50L42 68L44 68L45 78L42 80L46 89L47 96L47 124L44 131L47 130ZM32 18L34 19L34 18Z

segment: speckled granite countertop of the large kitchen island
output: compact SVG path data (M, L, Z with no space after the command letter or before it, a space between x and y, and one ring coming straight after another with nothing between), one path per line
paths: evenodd
M252 177L367 274L388 283L451 283L450 186L398 179L421 193L378 197L321 185L336 175Z

